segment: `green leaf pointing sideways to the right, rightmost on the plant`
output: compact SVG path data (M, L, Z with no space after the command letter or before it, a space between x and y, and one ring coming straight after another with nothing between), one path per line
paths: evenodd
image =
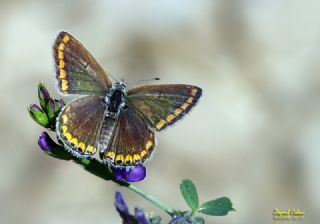
M232 203L229 198L222 197L216 200L208 201L200 206L198 212L206 215L223 216L227 215L229 211L234 211Z

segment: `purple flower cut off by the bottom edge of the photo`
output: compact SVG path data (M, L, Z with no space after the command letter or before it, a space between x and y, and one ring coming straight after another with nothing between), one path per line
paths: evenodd
M115 206L122 218L123 224L149 224L144 212L142 209L135 208L134 215L129 213L128 206L126 205L125 201L120 192L116 192L115 194Z

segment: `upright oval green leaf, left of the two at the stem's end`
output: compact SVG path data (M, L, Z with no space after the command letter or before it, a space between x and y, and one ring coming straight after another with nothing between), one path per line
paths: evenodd
M191 180L182 180L180 184L181 193L187 204L192 210L196 210L199 206L197 189Z

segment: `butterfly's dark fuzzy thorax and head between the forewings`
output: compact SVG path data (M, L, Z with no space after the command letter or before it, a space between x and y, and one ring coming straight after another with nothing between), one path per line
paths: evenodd
M116 82L105 97L107 115L118 117L125 107L126 86L123 81Z

